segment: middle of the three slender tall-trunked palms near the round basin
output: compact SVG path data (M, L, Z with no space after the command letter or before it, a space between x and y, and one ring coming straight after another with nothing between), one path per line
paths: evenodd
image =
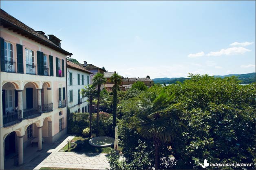
M98 86L97 90L97 136L99 135L99 97L100 97L100 86L102 84L105 84L107 82L106 77L104 77L104 74L97 73L93 77L93 85Z

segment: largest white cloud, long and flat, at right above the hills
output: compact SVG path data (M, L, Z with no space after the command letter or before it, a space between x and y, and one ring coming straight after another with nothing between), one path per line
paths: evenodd
M221 56L221 55L236 55L236 54L244 54L245 52L250 52L251 50L246 49L244 47L230 47L226 49L221 49L218 52L210 52L206 56Z

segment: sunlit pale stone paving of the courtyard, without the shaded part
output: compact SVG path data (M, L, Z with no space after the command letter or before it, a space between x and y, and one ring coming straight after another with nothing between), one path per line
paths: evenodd
M106 153L59 152L61 148L67 144L67 140L71 140L73 137L74 136L68 136L57 148L47 151L51 154L34 169L40 169L41 167L57 167L102 170L109 168Z

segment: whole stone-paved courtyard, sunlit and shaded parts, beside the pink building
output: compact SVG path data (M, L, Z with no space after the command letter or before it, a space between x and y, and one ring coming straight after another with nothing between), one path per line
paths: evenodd
M68 136L60 144L43 144L43 150L31 150L24 154L22 166L7 165L6 169L40 169L41 167L79 168L103 170L109 168L106 153L59 152L74 136ZM29 152L29 151L28 151ZM33 152L33 153L32 153Z

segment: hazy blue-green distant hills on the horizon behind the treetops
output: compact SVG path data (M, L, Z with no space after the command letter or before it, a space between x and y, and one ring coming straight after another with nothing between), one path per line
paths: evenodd
M256 82L256 73L247 73L247 74L229 74L229 75L214 75L214 77L231 77L231 76L237 76L238 80L241 80L242 82L240 84L250 84L252 82ZM173 84L175 82L183 82L189 78L185 77L179 77L179 78L155 78L153 79L154 83L160 83L160 84Z

